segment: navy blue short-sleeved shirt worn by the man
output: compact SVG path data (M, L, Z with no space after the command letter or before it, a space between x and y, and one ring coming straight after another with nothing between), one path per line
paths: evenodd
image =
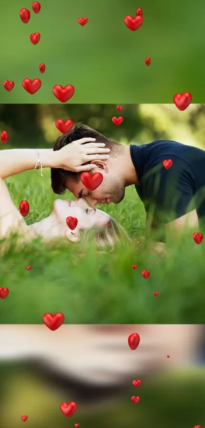
M139 184L135 186L145 211L158 223L168 223L196 209L205 218L205 152L176 141L130 145ZM165 169L163 160L173 164Z

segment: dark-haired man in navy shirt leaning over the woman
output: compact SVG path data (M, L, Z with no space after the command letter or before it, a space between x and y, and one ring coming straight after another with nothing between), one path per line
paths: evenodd
M51 168L51 186L55 193L62 194L68 189L94 207L111 202L119 204L125 188L135 185L146 211L147 230L157 227L159 243L164 241L164 232L170 229L179 231L189 226L194 232L197 230L198 220L205 216L203 150L169 140L124 146L84 124L76 124L58 138L53 150L82 137L96 138L111 148L108 160L92 161L96 165L93 172L101 172L103 182L91 192L81 183L80 173Z

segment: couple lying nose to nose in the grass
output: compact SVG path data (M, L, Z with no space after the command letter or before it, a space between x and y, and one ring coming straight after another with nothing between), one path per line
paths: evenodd
M4 179L31 169L42 172L44 167L51 168L54 193L69 190L76 200L56 199L47 218L27 226L12 202ZM101 172L103 181L96 190L89 191L82 184L83 171ZM112 246L116 240L129 238L122 226L95 207L111 202L119 204L125 188L130 185L135 185L144 204L147 231L160 231L153 243L153 248L160 252L165 245L166 231L179 232L189 226L196 232L198 222L204 220L205 152L169 140L125 146L81 123L59 137L53 150L2 150L1 237L18 230L25 238L42 236L52 240L66 236L71 242L77 242L82 234L92 230L98 246ZM78 220L74 230L66 224L69 216Z

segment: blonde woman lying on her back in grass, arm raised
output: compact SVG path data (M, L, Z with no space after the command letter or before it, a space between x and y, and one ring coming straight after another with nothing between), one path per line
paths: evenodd
M18 232L23 239L37 236L49 241L57 237L66 237L71 242L80 239L82 231L94 230L99 246L112 245L118 239L121 226L101 210L90 208L83 199L56 199L51 214L43 220L27 225L17 208L14 206L4 179L20 172L42 168L62 168L74 172L89 171L95 165L81 166L87 161L109 158L109 149L104 143L95 143L95 138L82 138L63 147L58 152L52 149L11 149L2 150L0 154L0 237L10 232ZM75 230L67 226L68 217L77 218Z

